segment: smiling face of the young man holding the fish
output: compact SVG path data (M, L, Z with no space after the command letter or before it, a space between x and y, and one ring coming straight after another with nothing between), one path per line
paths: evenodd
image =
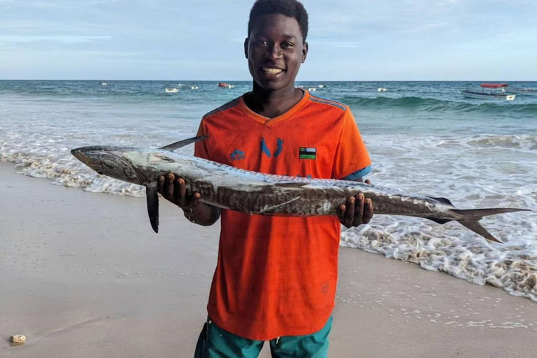
M308 44L303 43L299 22L281 14L257 19L244 43L248 69L264 90L294 87L300 64L306 61Z

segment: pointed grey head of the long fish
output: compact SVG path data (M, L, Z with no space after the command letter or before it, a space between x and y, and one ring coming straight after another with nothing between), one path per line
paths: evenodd
M125 156L128 150L120 147L92 146L71 150L71 154L97 173L115 179L142 184L138 171Z

